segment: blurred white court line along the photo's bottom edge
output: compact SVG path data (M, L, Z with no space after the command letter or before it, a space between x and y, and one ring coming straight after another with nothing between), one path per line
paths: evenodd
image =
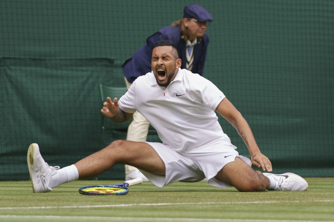
M0 219L44 219L44 220L97 220L97 221L191 221L191 222L316 222L316 220L252 220L252 219L208 219L208 218L163 218L163 217L96 217L96 216L29 216L0 215ZM333 222L326 220L321 222Z

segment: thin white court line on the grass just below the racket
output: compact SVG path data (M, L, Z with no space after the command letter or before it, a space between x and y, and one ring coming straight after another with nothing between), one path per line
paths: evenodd
M52 208L103 208L103 207L133 207L133 206L175 206L190 204L261 204L261 203L325 203L334 200L295 200L295 201L249 201L249 202L203 202L203 203L136 203L114 205L88 205L88 206L48 206L48 207L0 207L0 210L29 210L29 209L52 209Z

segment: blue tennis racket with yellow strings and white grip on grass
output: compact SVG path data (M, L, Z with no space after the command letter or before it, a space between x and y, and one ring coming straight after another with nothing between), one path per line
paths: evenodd
M143 179L137 177L124 183L84 186L79 189L79 193L83 195L125 195L129 192L129 186L141 184L142 182Z

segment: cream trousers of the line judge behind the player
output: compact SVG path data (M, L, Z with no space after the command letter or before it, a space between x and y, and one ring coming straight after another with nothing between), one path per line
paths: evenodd
M132 83L129 83L126 78L125 84L129 89ZM136 141L136 142L146 142L148 127L150 126L149 121L140 114L138 111L133 113L133 120L128 127L128 134L126 140ZM136 170L136 167L125 165L125 174L130 173L131 171Z

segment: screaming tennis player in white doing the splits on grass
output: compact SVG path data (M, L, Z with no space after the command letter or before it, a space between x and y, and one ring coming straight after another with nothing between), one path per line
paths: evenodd
M159 41L152 52L152 72L134 81L128 92L107 98L101 112L115 123L140 111L157 129L162 143L116 140L106 148L59 169L43 160L36 143L28 149L28 167L34 192L78 178L96 176L117 163L137 167L155 185L207 178L217 187L239 191L307 190L308 183L294 173L272 174L241 113L207 79L180 69L181 59L170 40ZM245 142L251 160L241 156L223 132L215 111L227 119Z

